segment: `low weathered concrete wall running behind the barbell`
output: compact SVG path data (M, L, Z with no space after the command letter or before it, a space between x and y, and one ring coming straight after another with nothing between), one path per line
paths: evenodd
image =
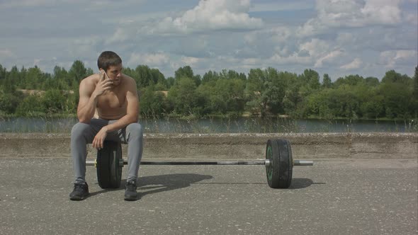
M143 159L264 159L267 140L276 138L290 140L293 159L418 158L418 133L252 133L145 134ZM70 157L69 142L69 134L0 133L0 157Z

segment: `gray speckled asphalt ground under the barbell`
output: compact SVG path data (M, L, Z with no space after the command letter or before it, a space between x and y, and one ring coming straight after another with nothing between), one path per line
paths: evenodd
M0 234L418 234L417 160L322 159L272 189L264 166L141 166L69 200L71 159L0 159ZM125 183L123 173L123 183Z

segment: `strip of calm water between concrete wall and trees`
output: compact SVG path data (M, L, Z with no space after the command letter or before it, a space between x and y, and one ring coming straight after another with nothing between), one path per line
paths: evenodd
M0 118L0 132L69 133L77 123L75 117ZM145 133L289 133L289 132L417 132L416 121L303 120L254 117L213 118L196 120L142 119Z

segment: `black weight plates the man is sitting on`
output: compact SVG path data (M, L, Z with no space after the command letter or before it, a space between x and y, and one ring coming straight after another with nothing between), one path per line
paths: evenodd
M119 188L122 178L122 147L118 142L105 141L97 151L97 181L100 188Z

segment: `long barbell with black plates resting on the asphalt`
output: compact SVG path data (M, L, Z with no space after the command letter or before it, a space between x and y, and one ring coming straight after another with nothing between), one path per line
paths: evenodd
M122 147L118 142L106 141L97 151L95 161L86 161L86 166L96 166L98 185L101 188L119 188L123 160ZM290 142L286 139L269 139L266 144L266 159L253 161L141 161L141 165L264 165L267 183L271 188L289 188L293 166L313 166L313 161L293 160Z

